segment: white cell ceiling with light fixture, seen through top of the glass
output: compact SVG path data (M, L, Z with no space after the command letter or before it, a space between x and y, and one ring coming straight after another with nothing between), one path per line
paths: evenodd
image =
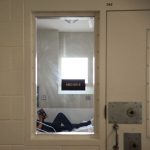
M75 20L74 23L68 21ZM58 30L59 32L93 32L93 17L53 17L37 18L38 29Z

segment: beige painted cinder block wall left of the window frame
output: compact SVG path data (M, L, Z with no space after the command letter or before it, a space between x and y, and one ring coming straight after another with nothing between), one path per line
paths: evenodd
M0 150L24 144L23 0L0 0Z

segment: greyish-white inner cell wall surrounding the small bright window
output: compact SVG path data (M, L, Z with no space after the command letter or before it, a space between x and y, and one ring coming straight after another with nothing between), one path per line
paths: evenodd
M59 94L61 57L87 57L89 85L93 85L94 37L92 33L40 29L37 33L37 85L39 107L43 108L91 108L93 95ZM64 49L65 47L65 49ZM87 93L88 94L88 93ZM45 95L46 99L42 100Z

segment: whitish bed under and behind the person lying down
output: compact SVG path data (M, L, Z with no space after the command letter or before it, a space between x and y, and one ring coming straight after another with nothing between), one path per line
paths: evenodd
M91 120L93 118L93 109L92 108L43 108L48 117L45 121L52 122L56 115L59 112L64 113L72 123L80 123L84 120ZM52 127L50 127L52 128ZM77 129L73 129L70 131L63 131L63 132L45 132L39 131L37 129L36 134L93 134L94 127L93 124L88 126L80 127Z

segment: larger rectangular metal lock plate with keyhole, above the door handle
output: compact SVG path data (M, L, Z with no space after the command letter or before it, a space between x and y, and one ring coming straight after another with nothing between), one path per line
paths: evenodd
M110 102L108 104L109 123L141 124L141 102Z

